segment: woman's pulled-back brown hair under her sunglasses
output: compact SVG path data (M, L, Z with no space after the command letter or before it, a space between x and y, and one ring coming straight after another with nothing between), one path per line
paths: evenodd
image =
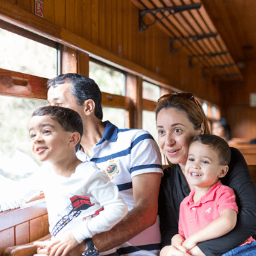
M210 130L207 118L203 113L201 104L199 102L196 104L195 100L195 98L187 99L175 95L164 98L156 104L156 117L158 117L158 114L162 109L175 108L186 114L195 130L200 129L203 122L205 127L204 133L209 134Z

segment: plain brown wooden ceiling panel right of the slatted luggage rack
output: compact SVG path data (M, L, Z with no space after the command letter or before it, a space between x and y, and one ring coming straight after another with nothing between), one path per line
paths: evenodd
M256 1L202 0L235 62L256 59Z

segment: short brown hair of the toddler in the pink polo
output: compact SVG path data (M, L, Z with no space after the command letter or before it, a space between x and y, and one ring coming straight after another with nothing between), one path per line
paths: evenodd
M228 165L230 163L231 150L226 140L217 135L203 134L194 137L191 140L190 145L196 141L208 145L215 150L219 157L219 165Z

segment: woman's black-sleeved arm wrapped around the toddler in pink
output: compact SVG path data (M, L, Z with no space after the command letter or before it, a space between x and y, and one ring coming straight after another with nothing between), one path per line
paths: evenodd
M198 247L207 256L222 255L238 247L256 231L256 186L242 154L234 148L231 148L231 152L228 173L221 182L230 186L236 194L238 219L236 226L228 234L215 240L198 243Z

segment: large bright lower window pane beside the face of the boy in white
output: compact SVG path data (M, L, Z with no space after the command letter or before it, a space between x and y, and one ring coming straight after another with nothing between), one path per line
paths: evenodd
M9 186L30 176L41 164L30 152L28 123L33 110L48 102L1 95L0 101L0 181L1 186Z

